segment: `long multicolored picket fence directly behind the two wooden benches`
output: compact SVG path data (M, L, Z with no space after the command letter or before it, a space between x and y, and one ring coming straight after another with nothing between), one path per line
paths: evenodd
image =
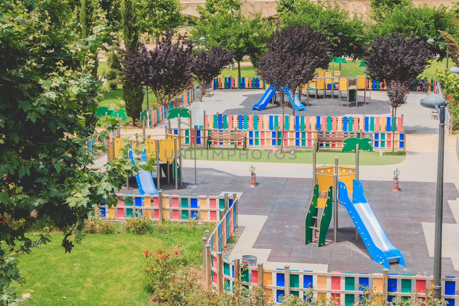
M333 134L357 134L357 137L372 139L375 150L405 150L406 134L403 130L402 117L369 117L369 116L291 116L281 115L206 115L204 126L196 126L197 145L206 145L209 130L238 130L247 133L247 147L272 148L282 142L282 126L285 127L284 145L294 148L312 148L317 139L318 130ZM392 139L392 132L394 134ZM177 129L174 134L177 134ZM194 132L182 129L184 145L194 144ZM224 145L223 143L213 143ZM228 145L228 144L227 144ZM233 145L233 144L229 144ZM319 147L339 149L342 144L319 142Z

